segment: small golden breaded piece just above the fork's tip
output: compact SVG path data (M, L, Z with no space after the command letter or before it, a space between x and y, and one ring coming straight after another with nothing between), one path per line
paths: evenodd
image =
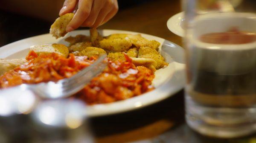
M96 47L87 47L81 52L81 56L88 56L89 58L91 56L100 56L103 54L106 54L106 51L101 49L101 48L96 48Z

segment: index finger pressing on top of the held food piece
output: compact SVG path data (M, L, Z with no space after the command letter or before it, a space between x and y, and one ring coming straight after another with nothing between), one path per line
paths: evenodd
M89 17L93 0L79 0L78 9L73 19L67 25L66 31L70 32L79 26Z

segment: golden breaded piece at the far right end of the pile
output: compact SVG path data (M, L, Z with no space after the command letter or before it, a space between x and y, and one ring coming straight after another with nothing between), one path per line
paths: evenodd
M157 50L150 48L150 47L140 47L138 58L150 58L154 59L157 62L156 69L159 69L161 67L164 67L165 65L168 65L164 61L164 58L160 53L157 52Z

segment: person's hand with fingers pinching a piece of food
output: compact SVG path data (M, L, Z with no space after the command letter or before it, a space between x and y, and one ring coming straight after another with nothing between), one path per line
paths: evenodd
M118 11L117 0L65 0L59 15L71 13L78 9L67 25L70 32L79 26L97 28L110 20Z

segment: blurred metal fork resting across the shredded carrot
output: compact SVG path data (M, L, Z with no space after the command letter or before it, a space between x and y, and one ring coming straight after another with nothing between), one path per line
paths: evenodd
M27 90L32 91L42 98L65 98L77 93L88 84L93 77L97 76L106 67L104 62L106 55L102 55L90 66L79 71L76 75L62 79L58 82L45 82L39 84L21 84L16 87L0 90L0 95L27 94Z

